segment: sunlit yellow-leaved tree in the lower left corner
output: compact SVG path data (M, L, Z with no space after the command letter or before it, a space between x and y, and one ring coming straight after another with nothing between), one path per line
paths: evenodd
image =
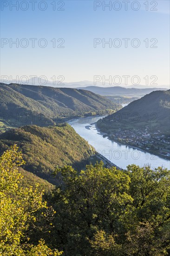
M47 206L38 186L35 189L19 186L22 176L18 167L22 164L22 154L16 145L0 157L0 255L60 255L43 240L35 246L28 243L26 230L36 221L36 212Z

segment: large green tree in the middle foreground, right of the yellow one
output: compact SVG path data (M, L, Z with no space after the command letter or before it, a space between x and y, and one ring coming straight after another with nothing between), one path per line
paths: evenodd
M57 169L56 174L61 186L53 198L58 223L54 237L68 255L94 255L90 240L98 230L124 234L121 216L133 201L127 174L104 168L103 162L80 174L72 167Z

